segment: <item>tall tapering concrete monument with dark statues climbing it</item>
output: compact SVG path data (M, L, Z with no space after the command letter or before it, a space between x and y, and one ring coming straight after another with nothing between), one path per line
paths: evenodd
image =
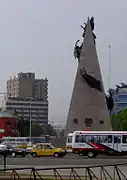
M82 26L81 26L82 27ZM94 18L83 28L83 43L75 44L78 68L73 88L65 136L75 130L111 130L109 112L96 52Z

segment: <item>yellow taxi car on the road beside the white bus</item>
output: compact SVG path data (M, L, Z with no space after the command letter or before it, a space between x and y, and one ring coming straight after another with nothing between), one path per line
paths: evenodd
M37 143L31 149L31 155L33 157L54 156L58 158L65 156L65 154L66 150L62 148L56 148L50 143Z

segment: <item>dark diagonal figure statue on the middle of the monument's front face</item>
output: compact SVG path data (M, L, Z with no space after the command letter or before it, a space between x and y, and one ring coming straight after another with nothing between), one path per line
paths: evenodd
M82 77L85 79L85 81L91 88L94 88L94 89L102 92L102 86L101 86L101 82L99 80L97 80L96 78L87 74L85 68L80 70L80 72L81 72Z

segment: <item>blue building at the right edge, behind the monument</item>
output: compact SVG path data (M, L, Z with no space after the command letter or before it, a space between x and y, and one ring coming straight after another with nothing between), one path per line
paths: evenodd
M114 107L112 114L117 114L121 109L127 107L127 85L121 83L121 86L116 86L116 89L111 89Z

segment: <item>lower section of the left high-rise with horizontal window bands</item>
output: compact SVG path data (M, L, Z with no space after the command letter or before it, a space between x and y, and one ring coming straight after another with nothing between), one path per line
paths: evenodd
M16 112L25 120L38 121L48 124L48 101L32 98L9 98L6 101L6 110Z

